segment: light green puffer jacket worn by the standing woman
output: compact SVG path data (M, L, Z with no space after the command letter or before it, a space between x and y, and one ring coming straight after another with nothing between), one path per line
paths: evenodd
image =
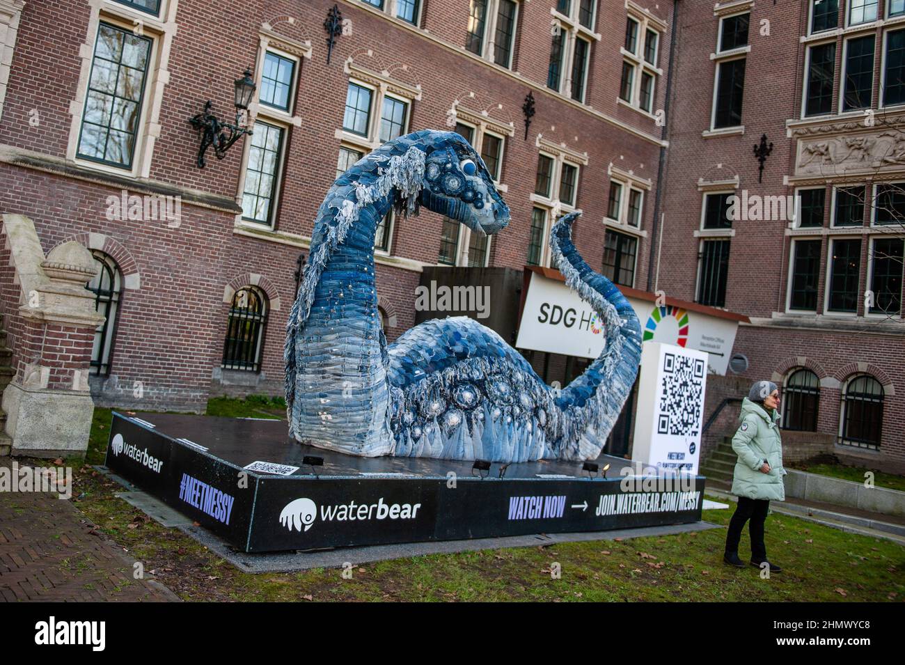
M741 403L741 425L732 437L732 450L738 454L732 478L732 493L748 499L786 500L783 486L783 443L779 436L779 413L773 417L760 404L746 397ZM760 471L764 461L769 473Z

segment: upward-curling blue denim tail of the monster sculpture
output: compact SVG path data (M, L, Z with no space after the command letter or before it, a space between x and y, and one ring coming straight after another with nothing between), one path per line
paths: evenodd
M590 305L605 328L605 347L583 375L557 396L562 411L564 447L560 456L594 459L603 450L625 400L632 391L641 359L641 323L614 283L592 271L572 242L570 213L553 226L550 244L566 283Z

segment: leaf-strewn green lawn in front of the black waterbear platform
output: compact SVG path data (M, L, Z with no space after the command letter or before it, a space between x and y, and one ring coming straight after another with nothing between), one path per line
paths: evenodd
M254 400L212 400L208 413L279 410ZM234 403L234 404L233 404ZM273 408L271 408L273 407ZM261 416L259 416L261 417ZM90 459L100 460L110 411L95 411ZM91 463L97 463L92 461ZM905 548L805 520L771 515L767 551L783 565L762 579L722 563L725 528L667 537L431 555L341 569L250 575L177 529L161 527L113 496L121 487L89 465L75 474L81 510L185 600L215 601L898 601ZM729 510L703 518L725 527ZM741 556L748 551L742 539ZM747 559L746 559L747 560ZM561 576L551 570L558 564Z

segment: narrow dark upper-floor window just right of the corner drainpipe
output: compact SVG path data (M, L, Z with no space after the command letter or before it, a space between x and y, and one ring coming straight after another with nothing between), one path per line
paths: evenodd
M745 66L748 46L748 24L751 14L732 14L719 18L716 63L713 83L711 129L742 126L742 101L745 94Z

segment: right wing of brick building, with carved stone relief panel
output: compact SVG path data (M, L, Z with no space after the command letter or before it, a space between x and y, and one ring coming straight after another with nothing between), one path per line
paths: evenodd
M735 351L795 440L905 470L905 5L679 7L658 288L748 314Z

